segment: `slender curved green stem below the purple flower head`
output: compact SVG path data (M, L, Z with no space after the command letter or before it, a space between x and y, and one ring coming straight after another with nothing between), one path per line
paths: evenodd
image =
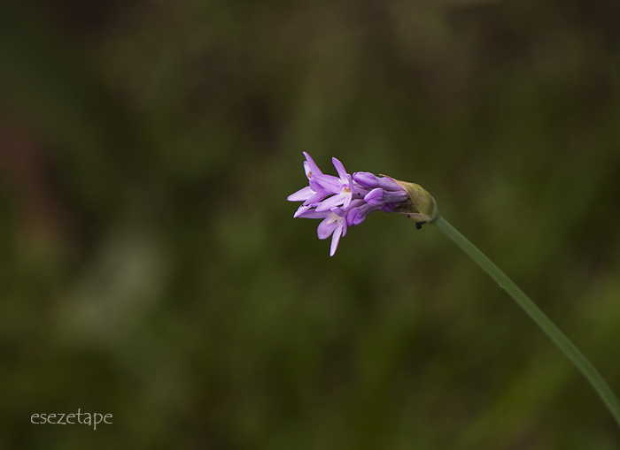
M506 292L519 303L521 308L525 309L525 312L534 319L534 322L539 324L539 327L555 342L556 346L560 347L560 350L569 357L570 361L577 366L577 369L581 370L581 373L583 373L585 378L593 385L596 392L601 395L601 399L605 402L611 414L616 418L618 426L620 426L620 402L618 402L616 395L601 377L599 372L594 369L593 365L585 359L585 356L577 350L577 347L564 336L549 317L546 317L545 313L543 313L503 271L500 271L498 266L484 256L474 244L469 242L469 240L459 233L452 225L448 224L444 217L438 216L431 223L437 225L439 230L446 234L450 240L468 254L486 273L491 275L491 278L497 281L500 287L505 289Z

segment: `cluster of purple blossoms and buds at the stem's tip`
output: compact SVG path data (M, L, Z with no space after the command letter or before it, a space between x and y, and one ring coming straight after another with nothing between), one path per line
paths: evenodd
M373 211L401 212L409 201L409 192L390 177L377 177L370 172L355 172L353 176L345 166L332 158L337 177L326 175L304 152L304 170L308 186L287 197L291 202L303 202L293 217L322 218L317 228L319 239L330 235L329 256L334 256L340 238L349 226L360 225Z

